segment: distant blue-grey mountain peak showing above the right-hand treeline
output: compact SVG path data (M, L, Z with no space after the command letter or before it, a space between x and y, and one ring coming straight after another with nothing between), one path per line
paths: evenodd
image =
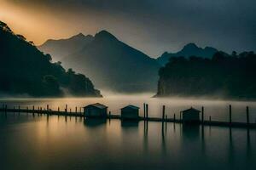
M197 56L197 57L204 57L204 58L212 58L213 54L218 52L216 48L206 47L206 48L199 48L195 45L195 43L188 43L177 53L164 53L162 54L157 60L160 65L166 65L171 57L190 57L190 56Z

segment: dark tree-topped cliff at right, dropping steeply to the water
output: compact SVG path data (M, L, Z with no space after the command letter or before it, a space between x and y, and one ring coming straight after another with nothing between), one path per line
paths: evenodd
M159 71L157 96L256 99L256 54L217 52L212 59L173 57Z

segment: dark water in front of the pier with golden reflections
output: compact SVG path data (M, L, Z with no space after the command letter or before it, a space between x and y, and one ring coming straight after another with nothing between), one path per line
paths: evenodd
M87 169L107 169L99 164L111 169L145 164L148 168L144 169L255 168L254 129L171 122L108 123L108 119L79 117L72 117L71 122L67 117L65 122L65 116L17 115L10 113L7 119L4 114L0 116L0 163L9 169L15 169L13 162L30 164L31 168L25 169L41 166L41 162L56 169L68 169L71 164L82 169L88 164L98 168ZM20 158L24 150L28 153L26 159ZM119 166L115 166L115 161Z

